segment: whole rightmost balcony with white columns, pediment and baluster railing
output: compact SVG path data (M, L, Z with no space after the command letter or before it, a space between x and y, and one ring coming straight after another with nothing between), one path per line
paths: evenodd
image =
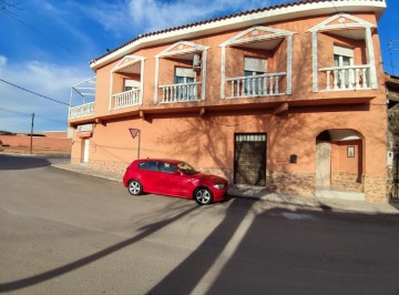
M313 51L313 92L378 89L372 31L375 24L347 13L332 16L309 30ZM326 37L346 44L334 43L326 59ZM321 42L323 41L323 42ZM321 51L321 53L319 53ZM358 63L360 65L356 65ZM334 64L335 67L328 67ZM327 65L327 68L326 68Z

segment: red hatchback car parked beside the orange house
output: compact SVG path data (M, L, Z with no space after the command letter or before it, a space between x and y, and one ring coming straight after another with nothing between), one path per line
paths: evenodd
M143 192L194 199L201 205L222 201L227 181L203 174L190 164L175 160L143 159L129 165L123 184L132 195Z

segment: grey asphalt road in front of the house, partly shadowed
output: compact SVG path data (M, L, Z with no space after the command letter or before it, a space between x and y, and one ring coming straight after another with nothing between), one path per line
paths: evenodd
M398 215L131 196L0 154L0 292L399 294Z

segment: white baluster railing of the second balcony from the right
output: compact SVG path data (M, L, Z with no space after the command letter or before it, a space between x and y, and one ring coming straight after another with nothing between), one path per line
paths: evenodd
M226 79L231 90L228 98L282 95L279 79L285 75L283 72Z

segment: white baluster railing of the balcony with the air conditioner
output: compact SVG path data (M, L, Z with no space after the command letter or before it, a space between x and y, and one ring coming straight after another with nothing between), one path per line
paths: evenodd
M161 85L160 89L162 89L161 103L200 101L200 82Z

